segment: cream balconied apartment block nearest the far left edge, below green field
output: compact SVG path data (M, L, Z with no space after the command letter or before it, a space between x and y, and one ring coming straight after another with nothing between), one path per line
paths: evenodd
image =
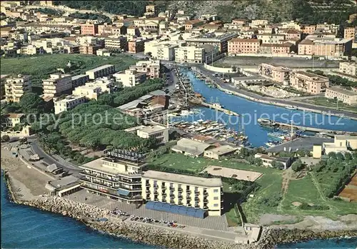
M26 91L31 91L31 76L17 75L6 78L5 101L19 102Z

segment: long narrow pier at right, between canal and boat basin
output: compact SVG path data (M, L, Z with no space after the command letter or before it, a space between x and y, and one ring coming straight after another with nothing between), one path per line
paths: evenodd
M322 128L308 127L308 126L296 126L294 124L276 122L276 121L272 121L272 120L269 120L266 118L259 118L258 122L261 123L261 125L263 125L263 126L265 125L265 126L280 127L280 128L286 128L286 129L290 129L291 126L293 126L293 128L296 128L301 131L312 131L312 132L316 132L316 133L326 133L327 135L330 135L330 136L354 133L351 131L336 131L336 130L328 130L328 129L322 129Z

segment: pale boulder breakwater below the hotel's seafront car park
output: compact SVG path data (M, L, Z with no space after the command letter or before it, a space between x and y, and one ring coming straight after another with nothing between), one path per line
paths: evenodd
M198 249L228 249L228 248L253 248L249 245L208 240L188 233L182 233L171 229L159 228L150 225L141 225L131 221L122 221L118 218L110 218L109 210L97 208L84 203L77 203L59 197L43 197L34 200L15 200L16 203L29 205L47 210L51 213L60 213L76 220L81 220L90 228L104 233L128 238L139 243L161 245L166 248L198 248ZM96 221L97 218L106 217L105 222Z

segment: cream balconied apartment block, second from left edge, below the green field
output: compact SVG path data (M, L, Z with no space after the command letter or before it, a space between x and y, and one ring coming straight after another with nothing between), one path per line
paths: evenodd
M44 98L59 96L72 88L71 74L52 73L49 78L42 80Z

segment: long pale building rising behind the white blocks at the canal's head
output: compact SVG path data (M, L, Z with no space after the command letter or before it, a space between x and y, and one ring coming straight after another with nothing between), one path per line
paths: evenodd
M201 46L201 45L212 45L218 48L220 53L226 53L228 51L228 41L237 37L236 33L226 33L220 36L208 33L201 37L194 37L186 39L188 46Z

